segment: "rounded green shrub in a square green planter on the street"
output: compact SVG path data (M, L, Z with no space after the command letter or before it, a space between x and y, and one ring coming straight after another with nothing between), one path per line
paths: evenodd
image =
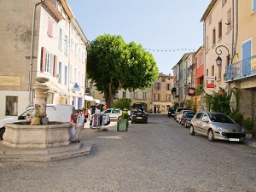
M125 109L129 110L131 106L131 99L121 98L113 103L113 108L119 108L122 111L121 119L117 122L117 131L128 131L128 112Z

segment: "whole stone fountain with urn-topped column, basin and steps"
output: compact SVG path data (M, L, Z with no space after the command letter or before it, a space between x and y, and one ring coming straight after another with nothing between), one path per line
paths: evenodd
M0 161L53 161L90 154L91 144L71 143L69 123L50 122L46 114L49 79L36 78L35 115L31 122L4 124Z

